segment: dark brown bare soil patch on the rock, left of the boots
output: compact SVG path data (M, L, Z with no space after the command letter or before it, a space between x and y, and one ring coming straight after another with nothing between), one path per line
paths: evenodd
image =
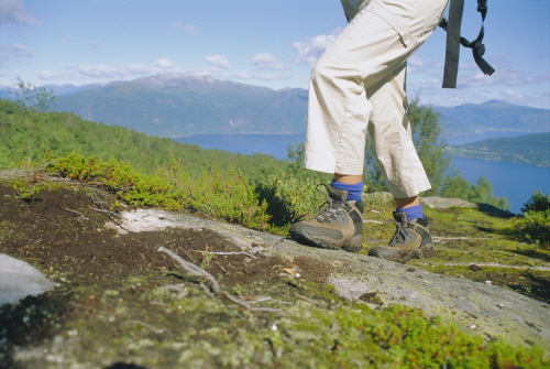
M279 278L283 269L293 267L316 282L324 282L330 274L329 264L308 258L297 258L293 265L279 257L242 253L231 240L208 229L119 235L105 227L109 220L117 221L114 213L105 210L116 198L105 191L58 188L23 200L13 188L0 185L0 199L2 221L19 227L19 236L2 240L0 251L78 283L110 284L152 271L179 273L173 260L157 252L161 246L218 275L219 282L230 287Z

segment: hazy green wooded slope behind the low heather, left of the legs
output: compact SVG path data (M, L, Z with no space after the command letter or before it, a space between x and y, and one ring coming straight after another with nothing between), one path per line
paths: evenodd
M216 163L219 167L237 166L248 178L257 178L272 166L285 165L268 155L202 150L121 127L85 121L72 113L43 112L0 100L0 167L40 161L45 152L59 158L73 151L98 160L124 161L150 174L157 165L168 164L170 156L185 160L194 175Z

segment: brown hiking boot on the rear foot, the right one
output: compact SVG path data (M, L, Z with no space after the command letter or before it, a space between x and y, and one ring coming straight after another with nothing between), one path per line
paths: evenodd
M428 218L418 218L410 221L403 211L394 211L393 223L397 228L394 237L386 246L377 246L369 250L371 257L406 263L411 258L428 258L435 252Z

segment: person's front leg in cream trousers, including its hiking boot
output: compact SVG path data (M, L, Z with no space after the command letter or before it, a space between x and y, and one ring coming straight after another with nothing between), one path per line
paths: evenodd
M364 140L373 110L365 89L385 84L394 70L405 68L406 59L439 22L446 3L373 0L318 61L309 89L305 167L334 173L337 183L327 186L327 209L314 219L293 225L293 238L312 246L358 249L362 237L358 213L362 213L362 205L359 200L348 202L349 192L338 186L358 184L354 182L362 177ZM407 13L399 14L404 9ZM411 19L414 24L409 24ZM397 144L402 146L396 152L410 149L407 140L398 140ZM398 192L394 195L399 197ZM332 210L339 216L332 216Z

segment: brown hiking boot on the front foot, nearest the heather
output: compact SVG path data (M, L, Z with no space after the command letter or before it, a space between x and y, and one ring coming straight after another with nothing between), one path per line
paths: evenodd
M363 204L348 200L345 189L322 185L327 188L327 207L311 219L295 223L289 230L290 237L300 243L323 249L361 250ZM316 189L319 191L319 185Z

